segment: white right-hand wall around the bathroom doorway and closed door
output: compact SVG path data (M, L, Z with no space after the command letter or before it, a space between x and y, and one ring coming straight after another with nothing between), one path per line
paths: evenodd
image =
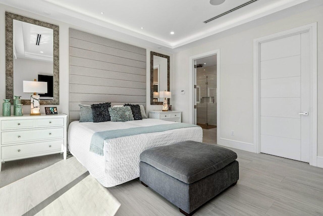
M317 22L317 110L318 155L323 156L323 7L317 7L271 23L250 27L239 33L218 37L174 55L173 92L177 109L183 111L183 122L190 122L189 59L192 56L220 49L220 144L253 145L253 39L268 34ZM181 95L180 91L186 94ZM231 136L231 130L235 136Z

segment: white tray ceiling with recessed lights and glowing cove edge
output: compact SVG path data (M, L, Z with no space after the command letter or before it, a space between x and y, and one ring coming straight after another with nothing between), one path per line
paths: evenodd
M0 3L67 23L83 20L174 49L311 1L314 0L257 0L207 24L203 21L249 0L226 0L219 6L210 5L209 0L0 0ZM175 34L170 34L171 31Z

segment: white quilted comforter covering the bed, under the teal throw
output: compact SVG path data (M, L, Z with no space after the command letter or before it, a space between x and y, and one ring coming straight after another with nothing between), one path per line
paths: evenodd
M127 122L73 121L68 132L69 150L99 183L104 187L113 187L139 177L139 155L144 150L185 140L202 142L202 128L179 128L105 140L104 156L89 151L92 135L100 131L170 123L175 122L151 118Z

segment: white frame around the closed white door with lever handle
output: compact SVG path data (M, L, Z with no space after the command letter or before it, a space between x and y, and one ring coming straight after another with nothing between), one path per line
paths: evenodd
M254 152L260 153L260 45L264 42L308 32L310 34L310 160L309 164L317 166L317 23L300 26L279 33L266 35L253 40L253 109L254 109Z

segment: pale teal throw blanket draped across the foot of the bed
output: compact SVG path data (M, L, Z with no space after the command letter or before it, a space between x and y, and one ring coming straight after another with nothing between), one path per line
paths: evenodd
M170 131L173 129L185 127L199 127L195 124L187 123L172 123L172 124L158 124L145 127L131 127L127 129L115 129L112 131L96 132L91 138L90 151L98 155L103 155L104 140L115 139L119 137L129 137L138 134L149 134L163 131Z

